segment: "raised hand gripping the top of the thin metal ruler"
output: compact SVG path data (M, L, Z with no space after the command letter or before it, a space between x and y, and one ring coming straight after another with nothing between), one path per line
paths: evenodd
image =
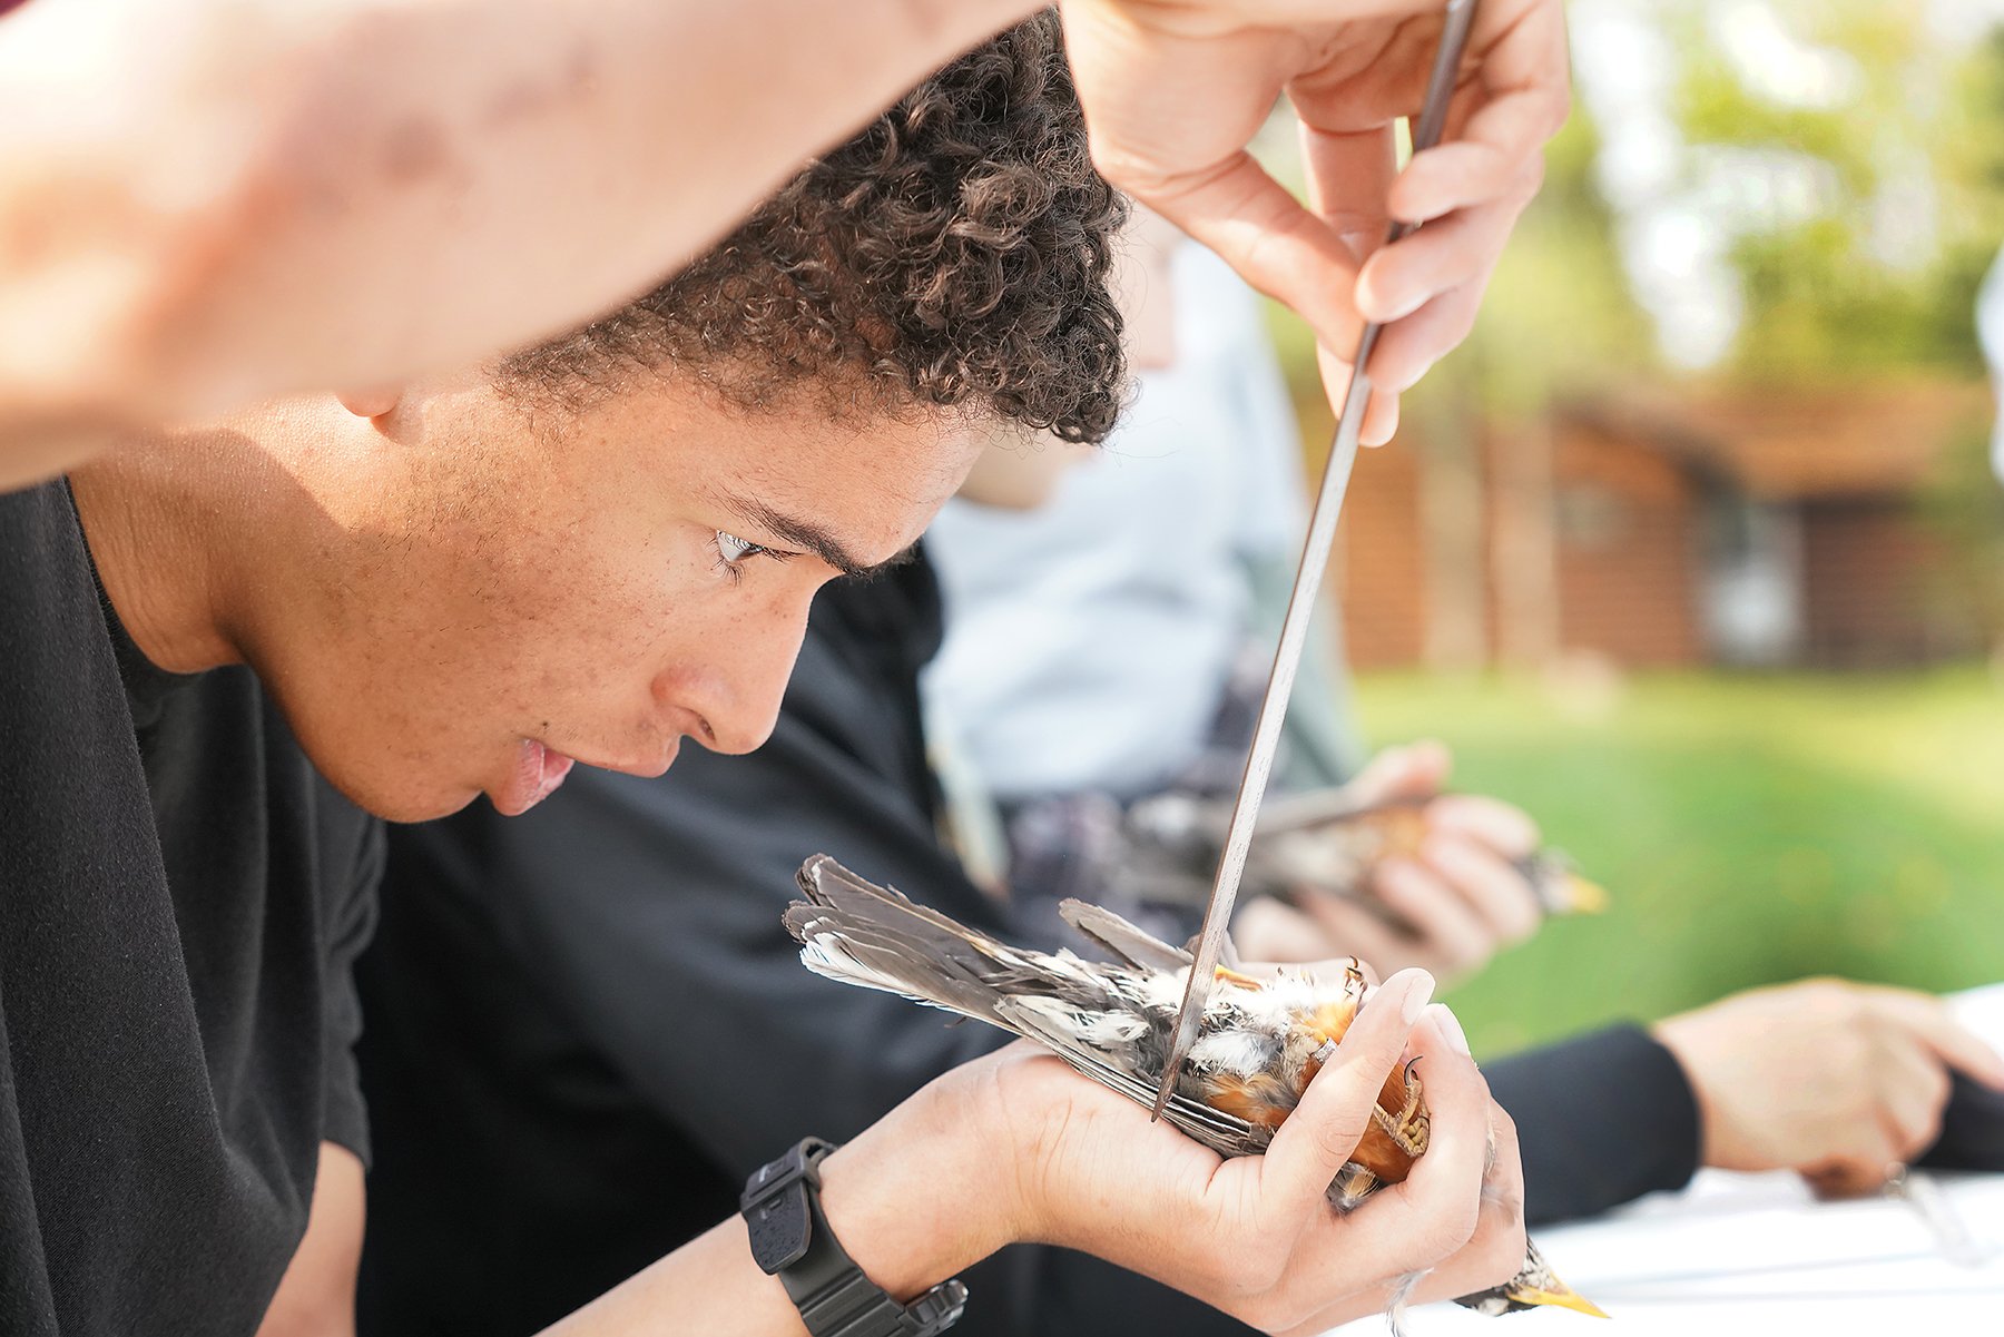
M1208 245L1315 327L1341 387L1367 321L1363 441L1467 337L1517 214L1565 122L1559 0L1483 0L1443 144L1397 170L1393 122L1417 114L1439 0L1064 0L1066 48L1110 180ZM1309 202L1246 152L1275 98L1301 124ZM1383 245L1391 220L1425 222Z

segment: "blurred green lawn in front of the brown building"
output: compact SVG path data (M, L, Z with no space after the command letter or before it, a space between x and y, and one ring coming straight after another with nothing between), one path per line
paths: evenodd
M1451 996L1477 1052L1806 974L2004 978L2004 688L1886 678L1363 676L1377 742L1441 738L1455 786L1527 808L1613 908Z

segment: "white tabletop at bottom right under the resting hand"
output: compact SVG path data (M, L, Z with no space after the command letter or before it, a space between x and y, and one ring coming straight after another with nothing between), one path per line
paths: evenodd
M1954 1004L2004 1050L2004 984ZM1701 1171L1683 1193L1537 1231L1545 1259L1617 1327L1559 1309L1485 1319L1455 1305L1415 1309L1409 1327L1413 1337L2004 1333L2004 1175L1926 1175L1920 1193L1932 1193L1932 1213L1898 1199L1818 1203L1790 1173Z

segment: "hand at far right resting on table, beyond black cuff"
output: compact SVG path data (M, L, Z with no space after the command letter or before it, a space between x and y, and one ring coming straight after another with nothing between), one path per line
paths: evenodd
M1948 1068L2004 1088L2004 1056L1904 988L1802 980L1657 1022L1697 1098L1701 1159L1876 1189L1942 1125Z

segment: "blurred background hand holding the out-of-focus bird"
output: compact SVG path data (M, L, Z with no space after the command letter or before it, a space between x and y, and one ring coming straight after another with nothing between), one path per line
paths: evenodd
M1259 898L1240 908L1232 940L1252 960L1323 960L1355 954L1379 970L1421 966L1453 980L1543 924L1519 860L1539 848L1537 824L1495 798L1441 794L1453 756L1441 744L1387 748L1351 782L1359 804L1431 800L1417 858L1389 856L1371 870L1375 906L1331 888L1293 888L1293 904Z

